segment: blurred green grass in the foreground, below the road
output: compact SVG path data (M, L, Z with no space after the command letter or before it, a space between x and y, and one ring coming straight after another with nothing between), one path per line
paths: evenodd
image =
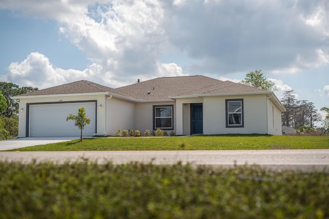
M326 171L0 162L0 218L328 218Z

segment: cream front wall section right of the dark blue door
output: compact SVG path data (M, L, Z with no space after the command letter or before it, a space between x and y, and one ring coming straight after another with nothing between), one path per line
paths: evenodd
M243 99L244 127L226 127L226 99ZM266 134L266 95L204 97L204 134Z

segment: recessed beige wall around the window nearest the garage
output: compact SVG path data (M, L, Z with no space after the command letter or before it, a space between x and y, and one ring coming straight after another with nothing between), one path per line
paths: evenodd
M144 103L136 103L136 115L135 115L135 129L140 131L141 135L144 135L146 130L153 131L153 106L154 105L174 105L173 106L173 114L174 114L174 130L165 130L168 132L168 135L171 131L176 133L176 118L177 118L177 111L176 111L176 104L175 101L168 101L168 102L144 102Z

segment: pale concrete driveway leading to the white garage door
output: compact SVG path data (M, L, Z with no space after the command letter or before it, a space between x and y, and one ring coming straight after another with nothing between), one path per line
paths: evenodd
M62 141L70 141L79 139L80 136L74 137L28 137L16 138L12 140L0 141L0 151L12 150L17 148L25 148L40 144L50 144Z

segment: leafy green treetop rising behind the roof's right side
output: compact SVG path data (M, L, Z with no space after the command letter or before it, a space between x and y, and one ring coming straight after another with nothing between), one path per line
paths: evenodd
M263 75L261 71L262 70L255 70L254 72L250 71L246 75L245 79L241 81L241 83L262 88L264 90L269 90L272 92L278 90L275 83L266 79L266 77Z

